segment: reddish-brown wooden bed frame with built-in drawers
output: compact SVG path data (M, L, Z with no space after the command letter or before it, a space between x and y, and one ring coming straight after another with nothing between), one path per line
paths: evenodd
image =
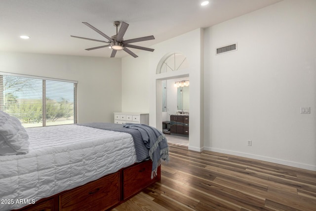
M154 179L151 173L152 161L143 161L15 211L110 210L160 180L160 167Z

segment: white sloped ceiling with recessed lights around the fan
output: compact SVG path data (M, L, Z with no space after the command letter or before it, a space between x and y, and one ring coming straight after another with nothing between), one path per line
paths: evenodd
M155 40L132 44L150 47L197 28L205 28L281 0L0 0L0 51L110 57L104 45L70 35L104 40L81 22L88 22L109 37L113 21L129 27L124 40L154 35ZM28 35L22 40L20 35ZM139 50L131 49L137 54ZM116 57L129 56L118 51Z

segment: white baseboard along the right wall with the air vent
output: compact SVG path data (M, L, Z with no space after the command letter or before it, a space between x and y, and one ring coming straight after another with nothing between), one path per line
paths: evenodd
M265 156L242 153L242 152L225 150L225 149L218 149L218 148L213 148L213 147L203 147L203 149L207 150L207 151L211 151L211 152L225 153L225 154L229 154L229 155L236 155L236 156L241 156L241 157L245 157L245 158L252 158L252 159L256 159L256 160L260 160L260 161L267 161L267 162L271 162L271 163L275 163L275 164L281 164L281 165L285 165L285 166L316 171L316 166L309 165L309 164L302 164L302 163L297 163L297 162L292 162L292 161L286 161L286 160L281 160L281 159L276 159L276 158L271 158L271 157L265 157Z

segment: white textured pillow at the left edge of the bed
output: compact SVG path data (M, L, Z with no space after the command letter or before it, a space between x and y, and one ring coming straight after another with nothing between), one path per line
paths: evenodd
M0 155L29 152L29 135L16 117L0 111Z

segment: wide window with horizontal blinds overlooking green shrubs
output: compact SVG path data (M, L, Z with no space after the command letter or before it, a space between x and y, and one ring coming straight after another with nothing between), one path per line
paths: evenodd
M77 82L1 74L0 110L24 127L77 123Z

